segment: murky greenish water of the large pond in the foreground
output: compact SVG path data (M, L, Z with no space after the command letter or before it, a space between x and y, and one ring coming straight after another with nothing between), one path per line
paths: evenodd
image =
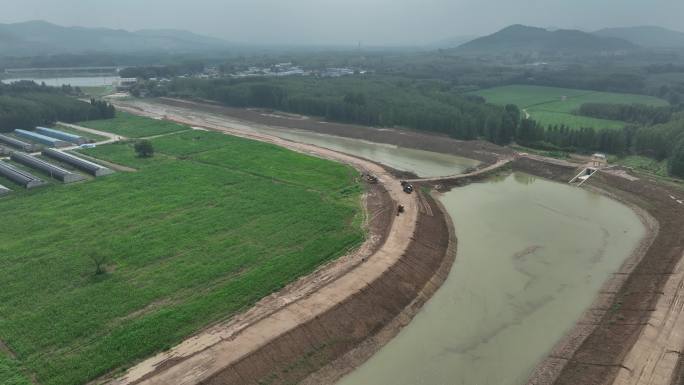
M458 236L447 281L340 384L524 384L645 231L613 200L520 173L441 200Z

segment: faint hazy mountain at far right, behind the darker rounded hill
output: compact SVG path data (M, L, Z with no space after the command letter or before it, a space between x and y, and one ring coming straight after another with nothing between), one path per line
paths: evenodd
M662 27L606 28L595 35L627 40L648 48L684 48L684 33Z

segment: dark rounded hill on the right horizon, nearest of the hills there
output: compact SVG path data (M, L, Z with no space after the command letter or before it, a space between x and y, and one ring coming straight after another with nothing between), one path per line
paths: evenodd
M578 30L548 31L543 28L513 25L492 35L463 44L454 53L501 55L512 53L596 54L639 48L623 39L601 37Z

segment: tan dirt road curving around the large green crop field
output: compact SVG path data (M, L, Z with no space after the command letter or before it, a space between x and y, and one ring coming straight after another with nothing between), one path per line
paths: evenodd
M391 227L381 247L372 255L364 256L365 262L358 264L346 274L329 280L323 286L311 285L308 290L307 285L299 283L300 287L304 286L304 289L294 297L291 296L292 292L286 291L290 298L286 295L273 301L272 305L277 303L279 306L276 306L275 310L268 309L268 316L242 315L236 319L244 323L232 321L212 327L168 352L143 361L127 371L124 376L111 380L109 384L198 384L210 381L216 376L225 375L225 371L231 365L241 362L271 341L288 335L299 325L314 322L339 304L348 301L349 298L368 290L369 286L395 268L409 249L412 237L417 231L418 212L422 206L419 206L417 194L404 193L399 180L375 163L320 147L257 133L239 122L232 122L228 119L215 117L207 119L144 103L136 104L135 108L130 105L118 107L136 114L164 117L191 126L273 143L301 153L352 165L362 172L377 175L380 185L386 189L392 202L385 203L391 204L392 210L396 204L402 204L406 208L406 213L391 221ZM320 278L321 274L319 273L318 276Z

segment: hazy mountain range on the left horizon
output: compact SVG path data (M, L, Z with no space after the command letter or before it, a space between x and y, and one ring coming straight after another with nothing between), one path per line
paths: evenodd
M225 50L230 46L230 43L221 39L173 29L129 32L108 28L62 27L45 21L0 24L2 56L90 51L191 53Z

